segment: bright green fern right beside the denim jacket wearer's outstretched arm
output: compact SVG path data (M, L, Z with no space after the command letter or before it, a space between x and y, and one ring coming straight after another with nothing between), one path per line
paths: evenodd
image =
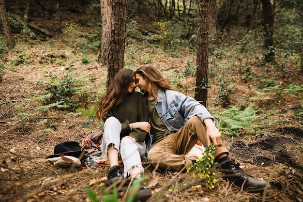
M253 109L253 105L244 110L236 107L227 109L223 112L214 114L214 117L219 119L217 123L218 129L223 135L240 135L240 131L250 130L256 132L260 126L253 124L258 119L258 110Z

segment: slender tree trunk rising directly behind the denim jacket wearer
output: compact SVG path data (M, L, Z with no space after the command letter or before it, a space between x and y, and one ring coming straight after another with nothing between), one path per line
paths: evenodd
M198 0L197 82L195 99L206 107L208 88L208 29L210 0Z

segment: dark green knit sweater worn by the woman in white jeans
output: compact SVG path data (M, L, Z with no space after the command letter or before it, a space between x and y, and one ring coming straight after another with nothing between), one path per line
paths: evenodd
M146 100L141 93L134 92L128 94L119 106L110 109L103 116L104 123L111 116L116 117L122 124L120 139L125 136L131 136L139 143L145 140L146 132L137 128L131 130L129 126L131 123L149 121Z

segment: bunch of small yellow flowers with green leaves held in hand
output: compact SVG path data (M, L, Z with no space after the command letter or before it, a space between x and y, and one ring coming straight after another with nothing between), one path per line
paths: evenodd
M213 156L215 149L212 142L209 147L205 148L202 157L198 158L196 163L187 168L187 172L194 171L194 178L205 178L209 189L214 188L217 182Z

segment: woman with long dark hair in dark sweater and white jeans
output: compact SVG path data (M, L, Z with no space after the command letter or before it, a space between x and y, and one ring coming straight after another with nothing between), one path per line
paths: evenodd
M144 173L141 156L146 154L145 140L150 131L146 101L141 93L135 92L136 77L130 69L121 69L112 80L99 103L96 119L104 121L101 149L108 156L110 171L107 179L111 185L122 179L118 160L124 164L124 178L131 182ZM142 186L136 201L145 201L152 196Z

